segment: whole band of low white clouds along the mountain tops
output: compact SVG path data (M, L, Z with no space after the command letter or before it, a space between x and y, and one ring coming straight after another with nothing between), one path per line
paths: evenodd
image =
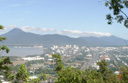
M4 30L0 31L1 33L8 32L14 28L20 28L21 30L25 32L32 32L37 34L48 34L48 33L56 33L60 35L67 35L70 37L103 37L103 36L111 36L110 33L102 33L102 32L87 32L87 31L79 31L79 30L68 30L64 29L62 31L56 31L53 28L40 28L35 26L23 26L23 27L17 27L16 25L10 25L5 27Z

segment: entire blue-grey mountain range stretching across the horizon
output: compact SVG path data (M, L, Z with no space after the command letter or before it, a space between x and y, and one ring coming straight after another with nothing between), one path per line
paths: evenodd
M79 46L124 46L128 40L116 36L72 38L58 34L39 35L15 28L1 36L7 37L4 44L18 45L79 45Z

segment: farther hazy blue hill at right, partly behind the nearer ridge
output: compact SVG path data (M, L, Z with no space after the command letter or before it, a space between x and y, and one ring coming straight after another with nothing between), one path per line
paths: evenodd
M96 46L126 46L128 40L116 37L116 36L104 36L104 37L80 37Z

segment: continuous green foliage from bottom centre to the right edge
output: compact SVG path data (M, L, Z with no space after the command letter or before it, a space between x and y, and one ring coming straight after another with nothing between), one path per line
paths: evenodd
M62 63L59 54L53 55L54 60L57 61L55 71L57 71L58 78L56 83L127 83L128 82L128 67L121 68L121 78L115 75L113 71L107 68L108 64L105 60L98 62L99 70L92 68L84 71L68 66L66 68L60 66ZM57 68L60 68L59 70Z

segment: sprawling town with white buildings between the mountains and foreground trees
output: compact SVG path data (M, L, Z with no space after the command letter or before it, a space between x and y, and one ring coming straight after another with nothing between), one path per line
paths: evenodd
M115 74L119 74L119 68L128 66L128 47L86 47L77 45L52 46L43 48L43 54L26 56L26 57L11 57L13 66L18 68L20 64L25 64L29 73L30 79L36 79L40 73L47 76L47 82L56 80L56 72L54 71L55 63L52 57L53 54L60 54L64 67L71 66L81 70L90 67L99 69L97 62L106 60L108 68L114 70ZM16 70L17 71L17 70Z

